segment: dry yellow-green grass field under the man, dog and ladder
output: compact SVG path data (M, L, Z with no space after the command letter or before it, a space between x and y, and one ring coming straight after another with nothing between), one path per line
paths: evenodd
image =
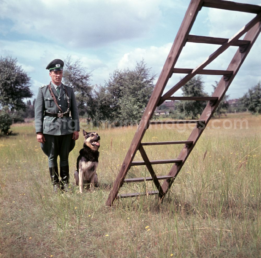
M238 119L245 122L235 129ZM112 208L105 207L109 190L79 194L72 184L82 132L69 157L72 190L55 194L33 125L13 125L11 136L0 137L0 257L261 257L260 124L250 114L214 121L162 204L141 196ZM135 129L97 129L101 183L114 182ZM143 142L186 140L183 129L150 128ZM183 146L144 147L150 159L168 159ZM157 175L170 167L153 165ZM127 174L140 176L149 176L143 166ZM135 183L120 192L145 189L154 188Z

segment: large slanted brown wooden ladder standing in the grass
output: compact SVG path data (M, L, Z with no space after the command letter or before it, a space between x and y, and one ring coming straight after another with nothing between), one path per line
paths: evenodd
M257 14L250 22L246 24L242 29L239 30L232 38L212 38L206 36L189 35L192 25L196 19L198 12L201 7L219 8L231 11L242 11L248 13ZM123 183L130 182L142 182L142 181L153 181L156 186L156 191L146 192L146 194L158 194L159 198L162 199L169 188L171 187L174 179L181 170L183 164L194 148L197 140L199 139L201 133L207 125L207 122L212 117L216 108L218 107L220 101L225 95L229 85L233 81L236 73L238 72L240 66L244 62L247 54L249 53L251 47L253 46L255 40L257 39L261 30L261 7L252 4L240 4L230 1L222 0L191 0L188 9L186 11L185 17L182 21L180 29L177 33L175 41L171 47L170 53L167 60L163 66L162 72L158 78L156 86L141 118L138 129L126 154L126 157L122 163L121 170L113 184L111 192L109 194L106 206L111 206L117 198L124 197L134 197L145 193L128 193L128 194L118 194ZM240 37L244 36L243 40ZM184 68L174 68L177 59L181 53L182 48L185 46L186 42L195 43L208 43L220 45L218 49L213 52L203 63L199 64L194 69L184 69ZM238 46L238 49L232 58L227 70L206 70L208 64L210 64L216 57L223 53L230 46ZM171 88L167 93L163 94L163 90L173 73L186 73L187 75L181 79L173 88ZM220 82L218 83L213 95L211 97L174 97L172 96L178 89L185 85L191 78L195 75L223 75ZM195 123L196 126L192 129L192 132L187 140L184 141L171 141L171 142L147 142L141 143L145 131L150 124L164 124L164 123L181 123L181 121L150 121L152 115L157 106L161 105L165 100L196 100L196 101L208 101L207 105L201 114L199 120L197 121L182 121L183 123ZM144 145L160 145L160 144L184 144L177 159L167 159L167 160L153 160L150 161L146 155L143 148ZM140 151L143 161L133 161L137 150ZM152 165L163 164L163 163L174 163L169 174L166 176L156 176ZM125 179L128 170L131 166L146 165L149 170L151 177L145 178L132 178ZM159 180L164 180L161 185Z

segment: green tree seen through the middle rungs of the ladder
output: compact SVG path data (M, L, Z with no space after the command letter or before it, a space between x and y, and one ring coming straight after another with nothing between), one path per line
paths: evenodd
M207 93L204 92L204 82L201 76L193 77L188 81L181 89L183 91L182 96L184 97L206 97ZM176 102L175 102L176 103ZM200 115L206 106L206 101L179 101L175 105L175 111L179 112L179 118L191 117L195 119ZM176 113L174 112L174 114Z

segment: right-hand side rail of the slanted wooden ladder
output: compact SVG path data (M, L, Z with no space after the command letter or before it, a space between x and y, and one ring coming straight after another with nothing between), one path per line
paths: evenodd
M205 119L205 125L207 125L207 122L210 120L210 118L212 117L213 113L215 112L216 108L218 107L219 103L221 102L223 96L226 94L226 91L229 87L229 85L232 83L234 77L236 76L240 66L242 65L242 63L244 62L247 54L249 53L251 47L253 46L254 42L256 41L259 33L261 31L261 22L256 23L255 26L253 26L245 35L245 40L250 40L251 43L249 45L249 47L246 49L245 52L240 53L240 50L238 49L236 54L234 55L232 61L230 62L228 69L227 70L233 70L234 73L233 75L229 78L229 80L224 81L222 78L220 80L220 82L217 85L216 90L214 91L212 96L218 97L218 101L215 105L210 106L209 103L207 104L207 106L205 107L203 113L200 116L200 120L201 119ZM206 126L205 126L206 127ZM173 176L174 179L176 178L177 174L179 173L179 171L181 170L183 164L185 163L187 157L189 156L190 152L192 151L192 149L194 148L195 144L197 143L197 140L199 139L201 133L203 132L204 128L200 129L200 128L194 128L190 134L190 136L188 137L188 140L192 140L193 144L189 147L189 148L183 148L178 156L178 159L182 159L182 162L178 165L173 165L173 167L170 170L169 175ZM168 189L171 187L171 184L173 183L173 180L171 180L170 182L168 182L167 180L165 180L162 184L162 189L164 191L164 194L167 193Z

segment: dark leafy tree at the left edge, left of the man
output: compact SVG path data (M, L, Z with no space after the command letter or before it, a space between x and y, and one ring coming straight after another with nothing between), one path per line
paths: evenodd
M24 98L32 97L30 78L17 59L11 57L0 58L0 106L7 106L13 110L25 109Z

